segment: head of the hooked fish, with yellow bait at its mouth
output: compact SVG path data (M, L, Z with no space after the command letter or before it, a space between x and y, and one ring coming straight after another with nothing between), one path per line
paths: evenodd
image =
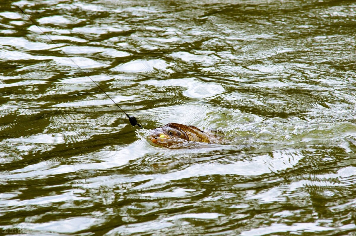
M182 143L184 140L188 140L188 136L178 127L165 125L152 129L150 132L150 139L154 144L167 146Z

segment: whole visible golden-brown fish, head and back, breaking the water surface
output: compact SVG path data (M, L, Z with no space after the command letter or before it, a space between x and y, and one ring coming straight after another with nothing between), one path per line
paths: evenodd
M195 141L210 143L210 137L203 130L192 126L177 123L169 123L162 127L152 129L150 132L152 143L161 146L183 143L184 141Z

